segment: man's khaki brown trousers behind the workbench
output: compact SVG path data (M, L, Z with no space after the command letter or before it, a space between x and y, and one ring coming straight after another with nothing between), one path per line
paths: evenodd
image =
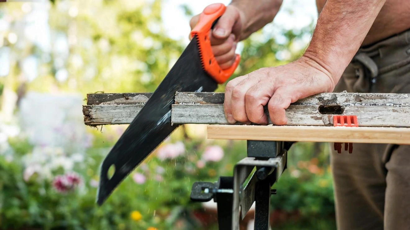
M342 90L410 93L410 30L361 48ZM330 159L339 230L410 229L410 145L353 144Z

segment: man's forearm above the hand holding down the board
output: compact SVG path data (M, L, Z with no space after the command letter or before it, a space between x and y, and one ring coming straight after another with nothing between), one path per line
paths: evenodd
M386 0L326 2L303 57L312 60L312 65L326 72L333 81L333 87L358 51L385 2Z

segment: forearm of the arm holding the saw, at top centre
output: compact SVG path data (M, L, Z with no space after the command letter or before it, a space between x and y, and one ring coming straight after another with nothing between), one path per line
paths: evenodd
M237 7L241 12L243 26L240 40L244 40L273 21L282 0L232 0L230 5Z

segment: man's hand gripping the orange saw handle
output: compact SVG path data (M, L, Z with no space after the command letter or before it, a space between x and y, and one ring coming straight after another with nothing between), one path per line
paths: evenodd
M191 18L191 29L198 19L199 14ZM237 7L229 5L210 34L212 52L222 69L229 68L235 61L236 45L241 39L244 20L244 14Z

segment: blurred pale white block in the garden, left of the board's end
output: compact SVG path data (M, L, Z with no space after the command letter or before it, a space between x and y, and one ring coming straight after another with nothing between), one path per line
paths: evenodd
M21 129L34 145L82 153L87 134L80 95L28 92L20 103Z

